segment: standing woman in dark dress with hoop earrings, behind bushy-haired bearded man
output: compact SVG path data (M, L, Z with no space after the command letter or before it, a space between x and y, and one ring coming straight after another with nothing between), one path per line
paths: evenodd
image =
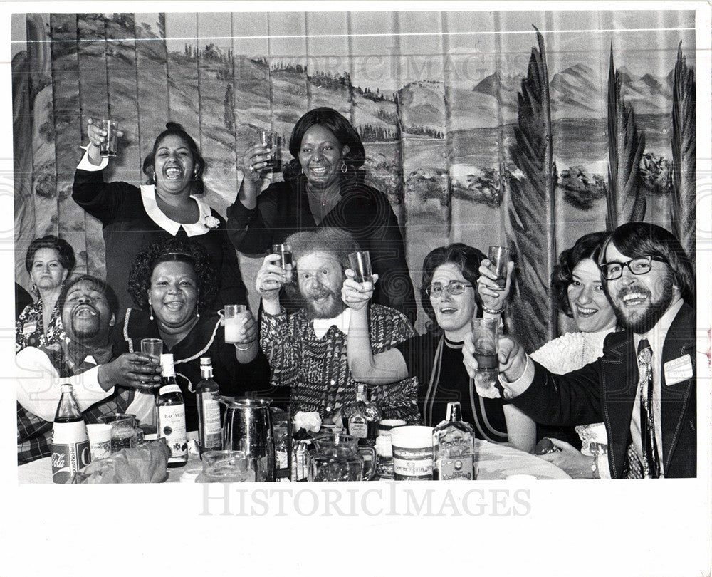
M294 232L336 227L355 236L370 251L381 282L374 302L397 308L414 322L417 308L398 220L385 194L365 184L361 139L349 121L331 108L302 116L289 140L294 157L284 166L284 182L273 182L260 194L260 172L271 151L262 145L244 156L245 178L227 212L236 249L266 254ZM298 308L281 298L288 311Z

